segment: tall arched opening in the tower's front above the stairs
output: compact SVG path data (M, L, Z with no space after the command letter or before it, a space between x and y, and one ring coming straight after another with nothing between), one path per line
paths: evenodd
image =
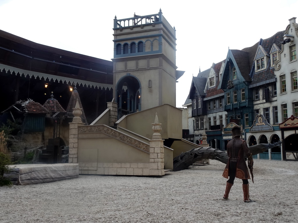
M122 77L116 86L118 119L141 110L141 86L134 76Z

